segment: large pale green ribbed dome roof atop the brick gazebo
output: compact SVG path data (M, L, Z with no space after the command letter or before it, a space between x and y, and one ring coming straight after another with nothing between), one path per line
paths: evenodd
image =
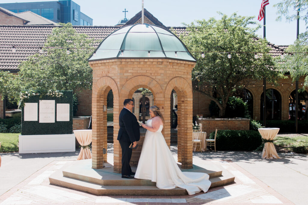
M128 25L114 31L100 43L89 61L115 58L196 61L183 42L170 30L151 24Z

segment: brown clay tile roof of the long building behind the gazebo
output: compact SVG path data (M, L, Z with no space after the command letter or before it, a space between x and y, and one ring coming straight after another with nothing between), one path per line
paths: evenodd
M0 25L0 70L17 72L20 62L38 53L39 47L44 45L47 36L51 34L51 30L55 27L57 25ZM73 27L78 33L87 34L89 38L99 40L95 44L95 48L105 37L119 28L115 26ZM177 36L180 34L188 34L185 27L173 27L173 30ZM15 53L11 51L13 45L16 47ZM33 46L35 48L18 46ZM284 49L287 48L286 45L279 46L273 43L269 43L268 46L272 48L270 53L273 57L280 56Z

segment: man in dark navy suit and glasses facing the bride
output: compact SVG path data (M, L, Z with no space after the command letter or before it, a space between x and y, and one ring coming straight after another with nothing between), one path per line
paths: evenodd
M139 124L136 116L132 113L134 102L132 99L124 100L124 108L120 112L119 116L119 133L118 138L122 148L122 178L132 179L131 175L135 175L132 172L129 161L132 157L132 149L129 145L133 143L133 147L136 147L137 141L140 140Z

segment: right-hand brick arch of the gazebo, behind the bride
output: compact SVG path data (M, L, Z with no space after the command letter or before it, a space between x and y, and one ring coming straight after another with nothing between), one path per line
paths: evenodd
M193 92L192 84L182 77L172 78L165 89L165 104L170 113L170 94L172 89L178 96L178 161L182 163L182 168L192 168L193 159ZM169 104L169 106L167 106ZM170 122L170 115L165 116L165 120ZM170 130L170 123L165 125Z

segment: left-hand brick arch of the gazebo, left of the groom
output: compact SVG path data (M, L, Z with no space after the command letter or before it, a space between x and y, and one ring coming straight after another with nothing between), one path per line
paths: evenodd
M92 168L103 167L103 161L107 161L107 154L103 154L103 148L107 149L107 112L103 111L107 106L107 95L112 90L114 115L118 115L119 89L111 77L102 77L93 84L92 88ZM116 121L115 119L114 121ZM115 122L114 122L115 123Z

